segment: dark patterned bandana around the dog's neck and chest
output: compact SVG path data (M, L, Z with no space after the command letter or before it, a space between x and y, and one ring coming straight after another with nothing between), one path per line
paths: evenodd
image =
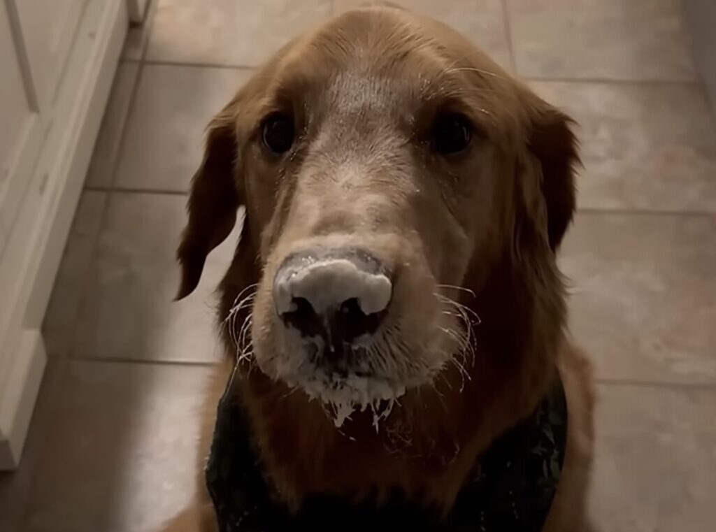
M219 532L539 532L564 461L567 405L560 379L535 412L495 440L475 465L447 517L405 500L354 505L312 496L289 514L261 472L233 375L218 405L206 483ZM398 530L400 530L398 528Z

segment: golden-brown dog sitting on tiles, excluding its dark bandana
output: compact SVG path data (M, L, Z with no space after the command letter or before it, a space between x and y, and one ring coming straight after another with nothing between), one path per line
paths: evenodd
M586 529L593 385L556 265L571 127L468 39L390 4L335 16L258 69L208 126L178 248L180 299L243 208L197 495L164 530L218 530L203 469L222 397L286 515L398 493L439 523L556 380L565 450L539 529Z

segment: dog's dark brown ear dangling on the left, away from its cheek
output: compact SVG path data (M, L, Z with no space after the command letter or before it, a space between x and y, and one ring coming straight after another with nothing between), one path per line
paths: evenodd
M231 102L208 126L204 157L191 183L189 221L177 251L181 284L176 299L196 288L206 256L231 233L236 211L243 203L237 173L235 110L236 104Z

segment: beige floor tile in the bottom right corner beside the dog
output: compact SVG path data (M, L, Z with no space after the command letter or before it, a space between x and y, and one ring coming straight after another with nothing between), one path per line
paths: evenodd
M591 514L599 532L710 532L716 390L602 386Z

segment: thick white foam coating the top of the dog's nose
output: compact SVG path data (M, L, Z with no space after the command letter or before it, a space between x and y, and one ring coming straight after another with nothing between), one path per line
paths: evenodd
M303 298L316 314L357 299L364 314L384 310L392 294L390 279L383 274L369 274L352 261L332 258L317 261L300 269L289 269L276 279L274 299L279 314L295 310L294 298Z

